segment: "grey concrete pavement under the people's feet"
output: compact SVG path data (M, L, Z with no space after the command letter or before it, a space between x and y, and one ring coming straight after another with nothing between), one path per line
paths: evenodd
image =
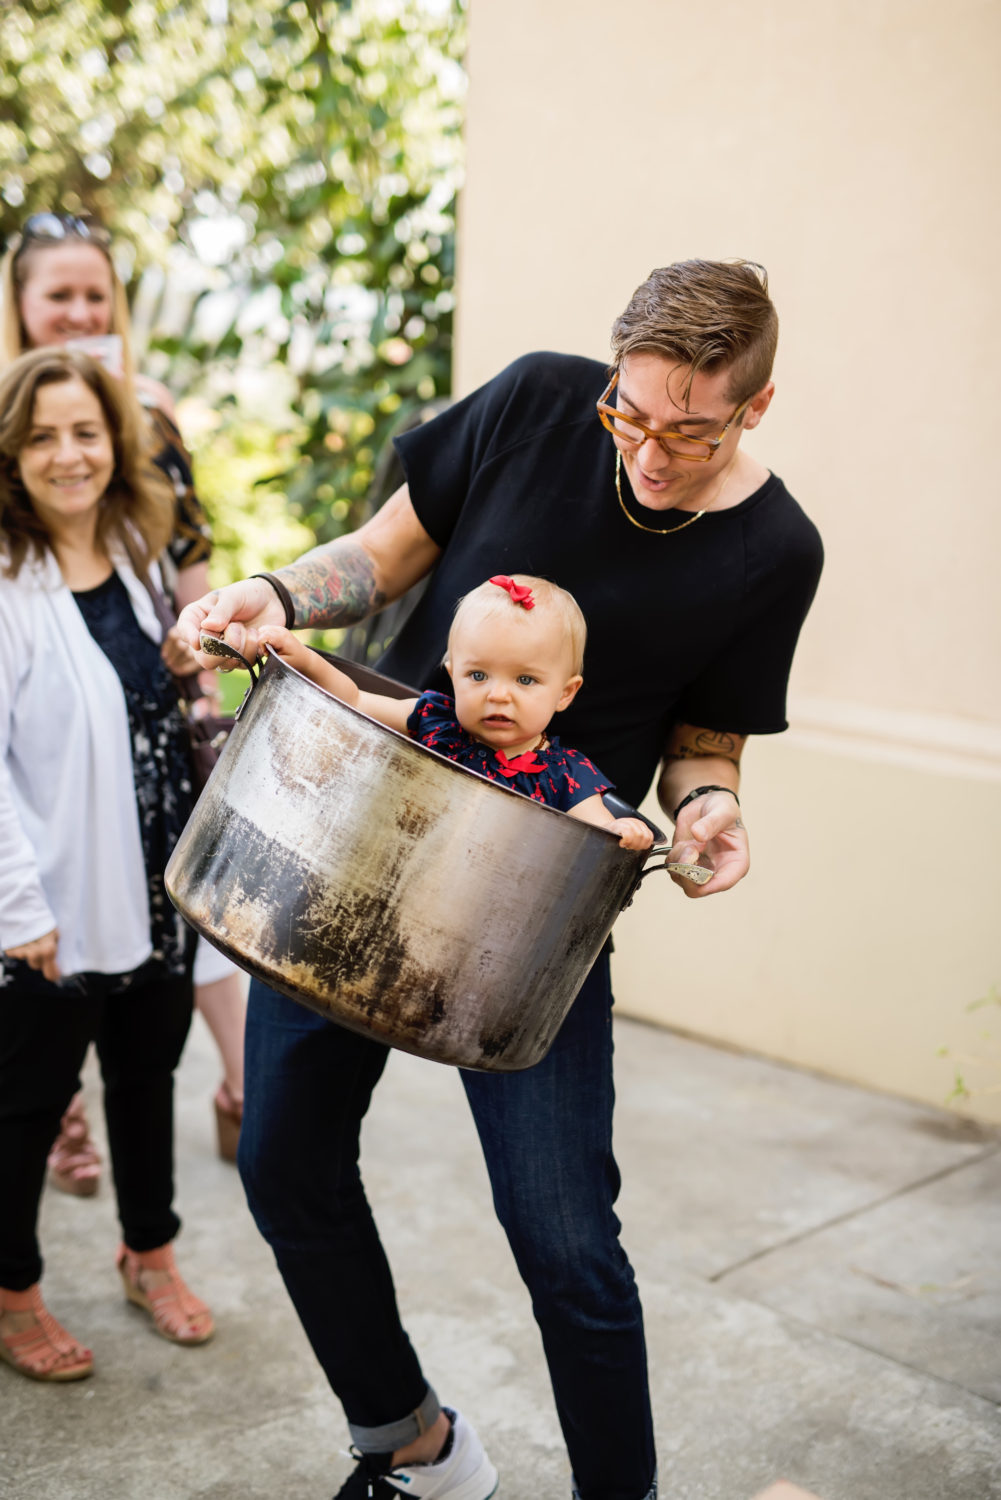
M665 1500L752 1500L779 1480L819 1500L1001 1500L1001 1136L635 1022L615 1041ZM47 1300L98 1370L45 1386L0 1365L3 1500L329 1500L350 1473L339 1408L215 1155L215 1082L198 1020L177 1256L215 1341L177 1348L126 1305L107 1180L92 1200L47 1192ZM87 1092L99 1118L93 1068ZM488 1444L498 1500L567 1500L452 1070L393 1054L365 1161L410 1334Z

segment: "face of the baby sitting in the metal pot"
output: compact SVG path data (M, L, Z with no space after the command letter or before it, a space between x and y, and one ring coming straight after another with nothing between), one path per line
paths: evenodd
M506 624L473 615L446 660L459 723L509 759L537 746L581 686L560 621L533 614L512 612Z

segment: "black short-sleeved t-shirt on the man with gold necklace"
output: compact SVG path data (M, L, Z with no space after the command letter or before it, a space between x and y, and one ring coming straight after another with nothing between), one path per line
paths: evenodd
M449 692L440 663L458 600L494 573L552 579L588 626L584 687L554 732L636 806L672 723L786 728L789 666L822 549L774 476L672 536L632 525L594 411L606 382L596 360L527 354L396 438L414 510L443 555L380 670ZM624 500L627 490L623 482ZM630 508L644 525L678 520Z

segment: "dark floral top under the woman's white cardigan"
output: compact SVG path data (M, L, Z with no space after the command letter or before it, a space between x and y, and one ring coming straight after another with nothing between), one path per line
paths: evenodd
M150 903L153 958L183 974L195 933L170 903L164 870L194 807L188 730L159 646L140 627L117 573L74 594L90 634L119 674L132 738L132 774Z

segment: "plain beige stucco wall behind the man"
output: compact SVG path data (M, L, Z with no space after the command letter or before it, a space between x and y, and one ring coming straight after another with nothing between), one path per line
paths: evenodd
M755 867L617 928L623 1010L1001 1119L996 0L471 0L456 376L605 357L653 266L747 255L782 318L749 440L821 526ZM597 561L596 561L597 566ZM989 1092L995 1084L996 1092Z

